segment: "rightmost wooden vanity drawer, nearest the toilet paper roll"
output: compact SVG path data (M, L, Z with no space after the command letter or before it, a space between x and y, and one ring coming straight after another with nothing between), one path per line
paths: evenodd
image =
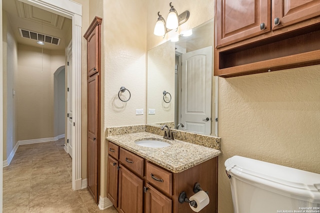
M147 182L168 195L172 195L172 173L147 162L145 176Z

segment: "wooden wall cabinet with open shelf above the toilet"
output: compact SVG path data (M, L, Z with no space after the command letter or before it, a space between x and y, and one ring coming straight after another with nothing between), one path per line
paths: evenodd
M214 75L320 64L320 0L216 0Z

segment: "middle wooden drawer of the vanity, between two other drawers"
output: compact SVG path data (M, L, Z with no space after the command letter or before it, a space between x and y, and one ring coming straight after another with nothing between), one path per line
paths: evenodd
M119 161L127 169L143 177L144 159L120 147Z

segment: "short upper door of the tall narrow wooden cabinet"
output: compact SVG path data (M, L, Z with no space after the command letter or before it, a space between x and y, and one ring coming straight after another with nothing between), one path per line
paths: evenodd
M87 38L87 72L88 76L98 72L98 28L92 30Z

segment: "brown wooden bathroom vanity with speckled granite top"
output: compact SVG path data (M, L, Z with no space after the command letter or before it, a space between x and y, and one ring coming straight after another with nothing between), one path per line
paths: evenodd
M106 138L107 197L120 213L193 213L189 198L199 183L208 192L209 204L201 213L217 211L217 156L219 150L140 132ZM143 147L135 142L158 140L168 147Z

